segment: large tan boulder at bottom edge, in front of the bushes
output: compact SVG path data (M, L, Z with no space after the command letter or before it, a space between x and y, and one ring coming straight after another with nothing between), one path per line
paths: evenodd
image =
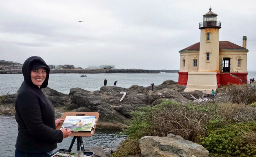
M208 157L201 145L184 140L181 136L144 136L139 140L142 157Z

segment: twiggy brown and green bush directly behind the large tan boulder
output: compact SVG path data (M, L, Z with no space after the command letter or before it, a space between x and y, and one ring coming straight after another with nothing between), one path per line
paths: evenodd
M214 104L200 106L165 100L133 112L130 127L124 133L137 139L146 135L166 137L171 133L198 142L199 135L205 136L208 121L218 118L217 109Z

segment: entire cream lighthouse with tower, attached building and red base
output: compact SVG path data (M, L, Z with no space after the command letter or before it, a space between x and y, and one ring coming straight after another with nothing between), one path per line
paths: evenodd
M221 22L211 11L203 15L199 23L200 42L180 53L178 85L186 85L185 91L206 90L210 93L222 85L247 83L247 37L243 46L219 40Z

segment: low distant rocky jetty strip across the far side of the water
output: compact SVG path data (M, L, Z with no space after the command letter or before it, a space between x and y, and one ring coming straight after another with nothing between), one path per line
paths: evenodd
M142 70L142 69L55 69L50 74L101 74L101 73L177 73L178 70ZM22 74L21 70L0 70L0 74Z

